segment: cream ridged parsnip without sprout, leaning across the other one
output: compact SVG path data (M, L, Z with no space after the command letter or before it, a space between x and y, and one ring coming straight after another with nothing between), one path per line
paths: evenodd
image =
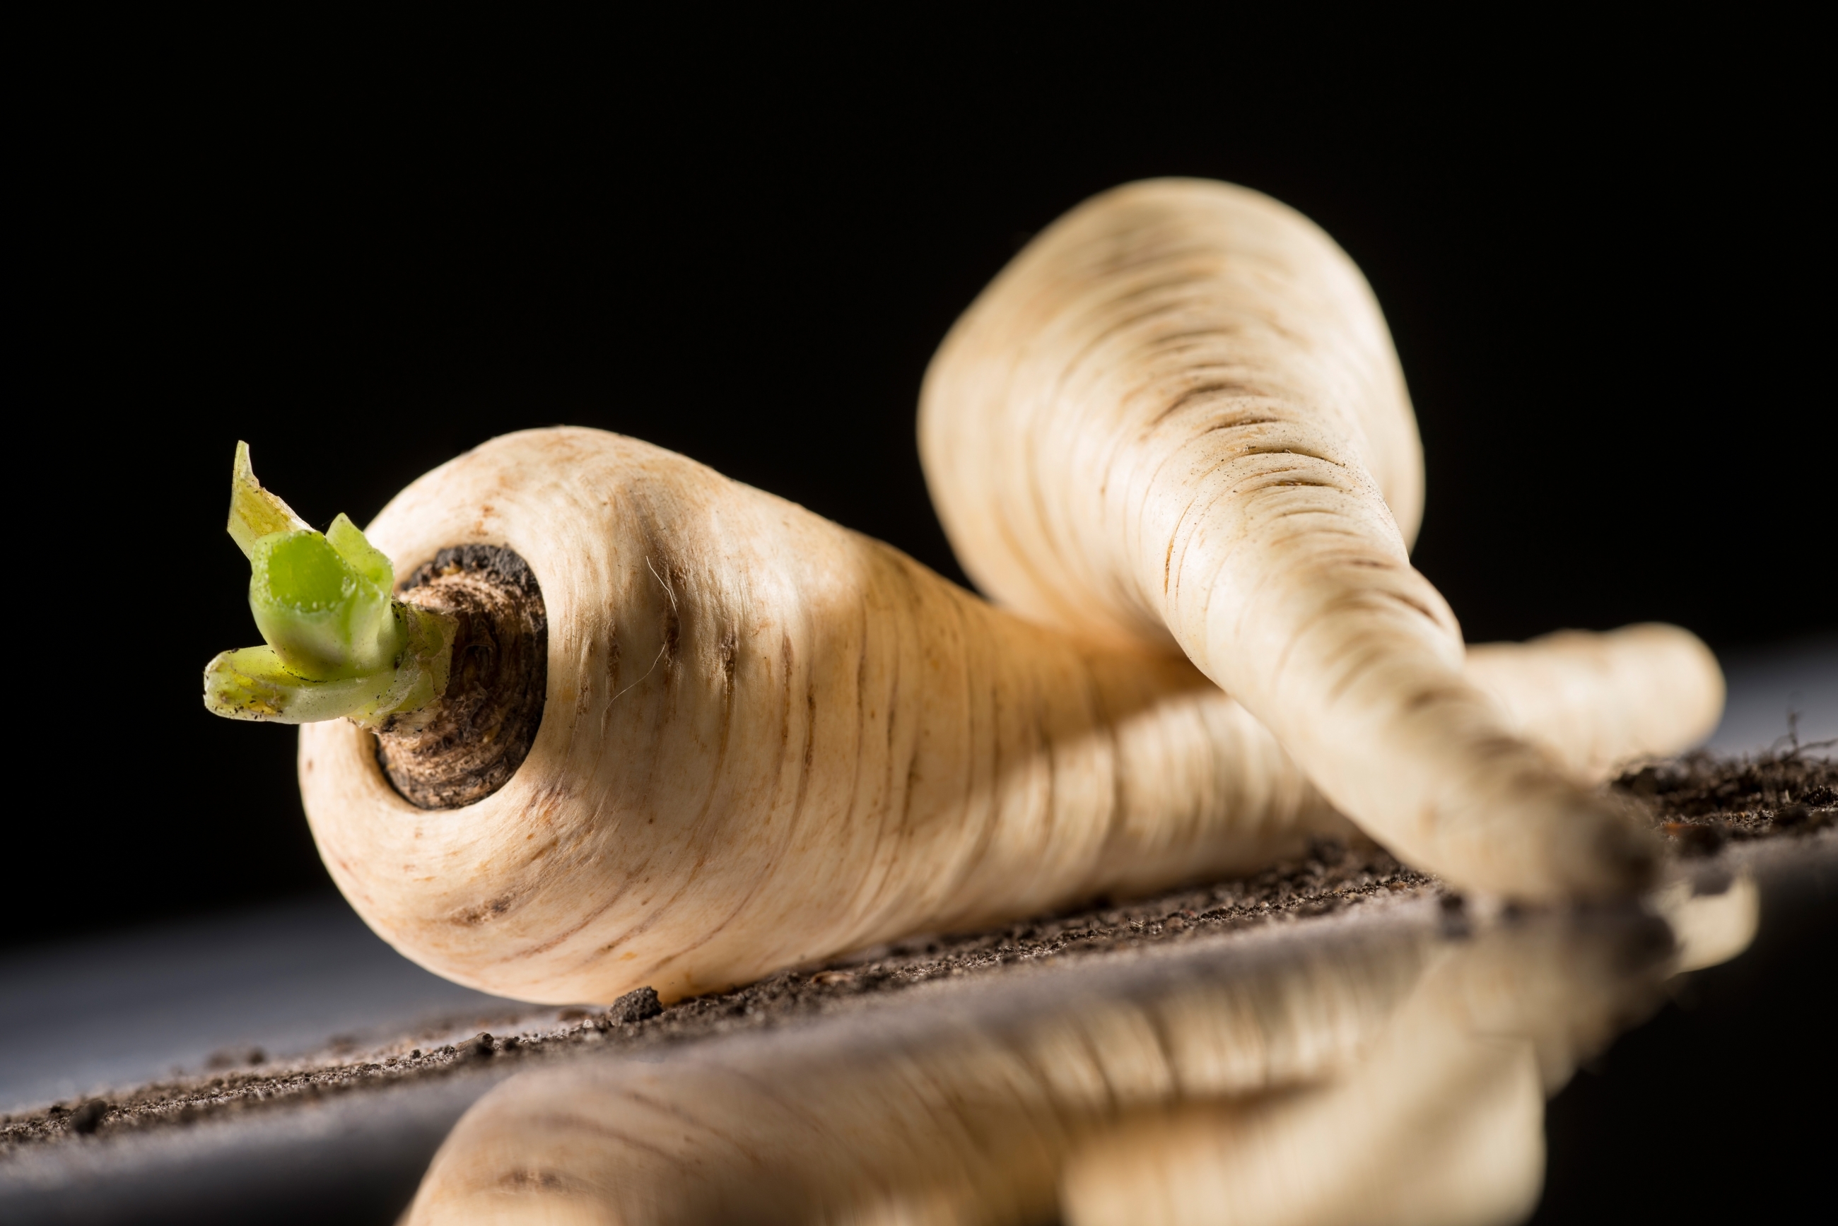
M1649 879L1649 844L1463 678L1408 559L1423 463L1384 318L1294 210L1204 180L1081 204L952 327L919 443L987 594L1173 638L1408 860L1531 899Z

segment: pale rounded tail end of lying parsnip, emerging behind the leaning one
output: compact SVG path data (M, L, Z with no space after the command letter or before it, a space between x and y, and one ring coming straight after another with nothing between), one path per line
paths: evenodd
M1674 625L1481 643L1469 647L1467 673L1515 732L1588 783L1700 743L1717 730L1724 702L1717 656Z

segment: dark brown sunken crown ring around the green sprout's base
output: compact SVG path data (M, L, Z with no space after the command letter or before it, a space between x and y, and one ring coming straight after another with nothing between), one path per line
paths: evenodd
M401 585L403 599L448 614L447 693L377 733L377 763L403 800L458 809L504 787L542 726L550 618L529 564L500 546L441 550Z

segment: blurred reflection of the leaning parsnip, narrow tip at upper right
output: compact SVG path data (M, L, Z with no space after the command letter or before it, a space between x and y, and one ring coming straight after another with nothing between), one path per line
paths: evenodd
M1656 1002L1669 943L1660 921L1625 915L1450 947L1347 1075L1255 1107L1174 1105L1092 1138L1066 1164L1064 1219L1524 1220L1544 1182L1544 1095Z

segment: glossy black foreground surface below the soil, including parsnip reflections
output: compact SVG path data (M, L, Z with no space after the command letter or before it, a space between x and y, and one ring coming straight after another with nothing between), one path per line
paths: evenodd
M7 1160L0 1217L382 1222L417 1186L412 1220L1766 1215L1823 1195L1838 834L1691 871L1647 910L1424 897L72 1140Z

